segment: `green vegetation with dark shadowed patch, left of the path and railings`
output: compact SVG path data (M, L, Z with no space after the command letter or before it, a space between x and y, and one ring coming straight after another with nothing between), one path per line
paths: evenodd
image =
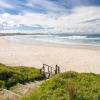
M43 76L40 70L24 66L6 66L0 64L0 88L9 89L17 83L25 84L26 82L41 80Z

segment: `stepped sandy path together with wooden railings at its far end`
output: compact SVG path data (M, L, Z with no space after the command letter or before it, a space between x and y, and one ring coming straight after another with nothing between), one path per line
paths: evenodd
M58 65L51 67L47 64L43 64L40 73L45 79L48 79L50 76L60 73L60 67ZM10 90L2 89L0 91L0 100L21 100L23 96L30 94L31 91L38 88L44 81L45 80L30 82L25 85L18 83L16 86L11 87Z

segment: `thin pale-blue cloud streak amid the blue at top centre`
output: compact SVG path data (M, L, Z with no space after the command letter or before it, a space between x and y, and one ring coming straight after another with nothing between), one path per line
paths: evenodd
M33 7L33 6L39 6L44 8L48 12L58 12L58 13L63 13L67 12L67 9L64 6L57 5L56 3L53 3L52 1L49 0L27 0L28 6Z

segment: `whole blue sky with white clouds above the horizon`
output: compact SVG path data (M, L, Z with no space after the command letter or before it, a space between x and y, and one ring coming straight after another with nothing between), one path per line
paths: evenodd
M0 33L100 33L100 0L0 0Z

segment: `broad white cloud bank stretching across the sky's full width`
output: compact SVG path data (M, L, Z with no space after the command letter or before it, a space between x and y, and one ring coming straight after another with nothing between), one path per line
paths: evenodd
M24 25L41 25L49 32L100 32L100 20L91 21L96 18L100 18L100 7L79 7L73 10L72 14L40 14L29 13L11 15L0 14L0 25L6 22L4 27L12 29L12 27L18 27L20 24ZM55 17L56 16L56 17ZM87 22L86 22L87 21ZM47 27L53 27L48 29ZM24 30L23 30L24 31ZM42 32L45 30L42 30ZM33 30L35 32L35 30Z

